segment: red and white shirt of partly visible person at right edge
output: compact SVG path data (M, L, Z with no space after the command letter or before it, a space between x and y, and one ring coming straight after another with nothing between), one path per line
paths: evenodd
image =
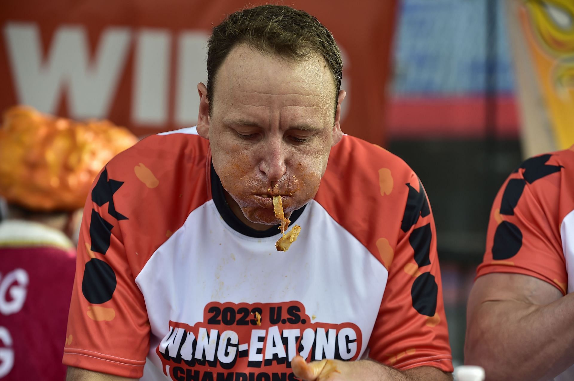
M492 205L476 277L524 274L574 291L574 146L523 162ZM570 274L570 276L569 276ZM556 380L574 379L574 367Z

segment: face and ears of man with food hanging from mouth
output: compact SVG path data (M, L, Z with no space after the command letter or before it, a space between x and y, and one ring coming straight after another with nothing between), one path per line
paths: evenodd
M323 58L294 63L242 44L218 70L211 116L205 86L198 89L197 131L210 139L215 171L250 222L278 223L273 195L286 216L315 197L342 136L344 91L335 115L335 81Z

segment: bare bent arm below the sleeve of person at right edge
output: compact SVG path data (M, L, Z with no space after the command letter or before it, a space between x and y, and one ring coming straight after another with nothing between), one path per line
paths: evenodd
M574 362L574 294L522 274L476 280L467 310L465 362L489 380L552 379Z

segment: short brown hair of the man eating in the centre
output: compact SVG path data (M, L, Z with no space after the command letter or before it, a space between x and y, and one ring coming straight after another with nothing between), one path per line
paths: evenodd
M234 46L248 44L262 53L276 54L295 62L313 55L323 57L335 80L337 95L343 61L331 32L305 11L283 5L261 5L236 11L215 26L208 41L207 99L210 113L215 74Z

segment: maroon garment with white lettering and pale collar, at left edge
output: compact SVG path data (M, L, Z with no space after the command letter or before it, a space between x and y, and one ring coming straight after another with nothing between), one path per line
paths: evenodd
M0 379L65 379L75 265L75 249L59 231L0 223Z

